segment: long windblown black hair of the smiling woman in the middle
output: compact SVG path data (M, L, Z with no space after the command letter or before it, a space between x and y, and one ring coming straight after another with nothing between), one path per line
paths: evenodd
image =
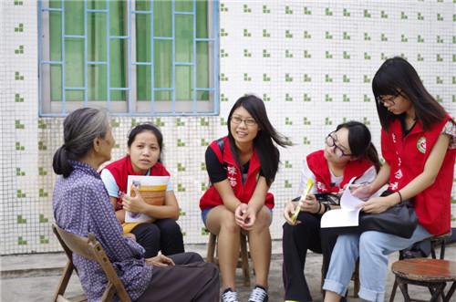
M274 142L281 147L289 146L291 145L291 142L287 141L285 137L277 132L273 125L271 125L271 122L267 118L263 100L254 95L246 95L236 100L228 116L228 139L230 140L234 157L238 162L239 152L234 142L230 125L233 112L239 107L246 109L258 125L259 130L254 138L254 149L260 158L261 170L266 179L266 183L267 185L271 185L274 182L275 174L280 162L280 154Z

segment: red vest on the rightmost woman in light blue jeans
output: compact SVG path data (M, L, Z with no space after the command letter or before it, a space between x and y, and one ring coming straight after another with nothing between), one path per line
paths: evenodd
M391 121L388 132L381 131L381 151L391 169L389 190L399 191L423 172L430 151L448 120L451 120L450 116L434 124L428 131L423 130L418 120L406 137L403 137L399 119ZM430 234L445 234L451 228L455 151L447 151L435 182L413 198L418 221Z

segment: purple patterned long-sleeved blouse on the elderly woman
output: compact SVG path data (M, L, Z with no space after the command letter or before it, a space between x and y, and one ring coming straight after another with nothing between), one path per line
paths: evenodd
M80 161L71 161L71 164L75 170L67 178L57 179L52 196L57 225L80 236L95 234L130 298L136 300L152 276L152 267L144 261L144 249L122 236L122 228L98 172ZM73 255L73 262L88 301L99 301L108 283L101 266L79 255Z

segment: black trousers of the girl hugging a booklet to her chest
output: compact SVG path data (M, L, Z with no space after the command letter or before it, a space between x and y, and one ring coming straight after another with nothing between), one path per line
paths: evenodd
M158 255L159 251L163 255L184 252L181 227L171 218L159 219L153 224L138 224L131 233L146 250L145 258Z

